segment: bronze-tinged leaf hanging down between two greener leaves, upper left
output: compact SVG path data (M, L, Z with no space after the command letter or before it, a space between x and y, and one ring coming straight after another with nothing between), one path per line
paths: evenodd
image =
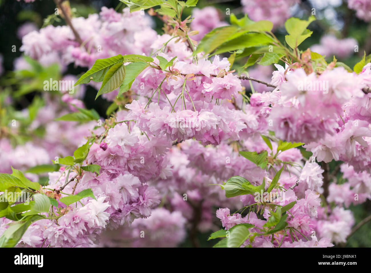
M135 63L133 63L135 64ZM114 64L104 76L102 86L96 94L96 98L104 93L109 93L119 88L125 78L125 66L122 63Z

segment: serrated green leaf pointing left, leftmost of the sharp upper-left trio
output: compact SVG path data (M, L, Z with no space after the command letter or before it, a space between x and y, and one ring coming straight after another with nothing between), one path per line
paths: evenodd
M87 84L91 80L95 82L103 81L104 75L108 72L108 70L113 65L122 63L122 61L124 61L124 57L121 54L106 59L96 60L92 68L79 78L75 86L78 84Z

